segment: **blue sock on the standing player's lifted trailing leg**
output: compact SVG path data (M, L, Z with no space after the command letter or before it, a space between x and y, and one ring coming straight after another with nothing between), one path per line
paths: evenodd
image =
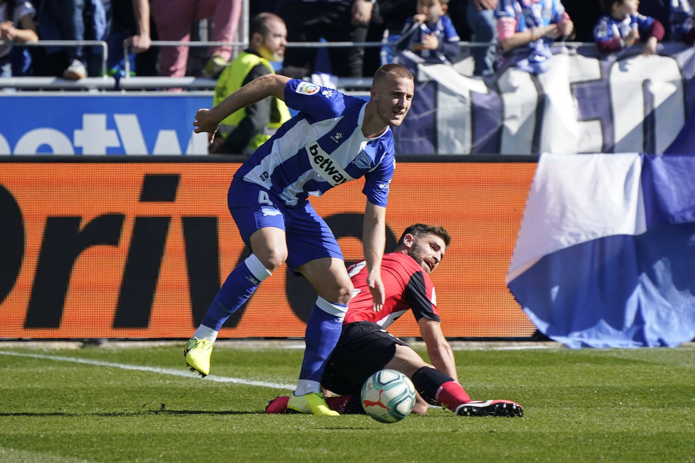
M201 324L219 331L231 314L254 294L261 281L269 276L270 271L255 255L247 257L224 280Z

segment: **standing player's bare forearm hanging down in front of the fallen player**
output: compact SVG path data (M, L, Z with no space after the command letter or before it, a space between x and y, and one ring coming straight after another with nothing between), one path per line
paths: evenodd
M362 248L367 264L367 285L372 293L375 312L384 307L386 299L382 283L382 258L386 246L386 208L367 201L362 225Z

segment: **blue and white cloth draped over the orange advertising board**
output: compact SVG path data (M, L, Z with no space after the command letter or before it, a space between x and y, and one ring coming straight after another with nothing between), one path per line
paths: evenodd
M507 274L537 328L573 348L692 340L694 178L694 155L541 155Z

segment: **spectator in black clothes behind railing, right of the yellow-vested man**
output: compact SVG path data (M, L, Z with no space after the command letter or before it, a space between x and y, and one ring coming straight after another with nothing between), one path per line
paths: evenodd
M364 42L375 0L279 0L277 14L285 20L290 42ZM316 71L316 48L287 50L285 69L292 76L309 76ZM329 48L331 74L361 77L364 47Z

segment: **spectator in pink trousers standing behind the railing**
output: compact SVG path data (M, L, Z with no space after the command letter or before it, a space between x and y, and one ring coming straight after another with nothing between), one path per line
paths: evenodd
M152 16L160 40L190 41L193 21L212 17L214 42L232 42L241 15L241 0L152 0ZM217 75L231 59L231 45L211 47L210 58L204 67L206 76ZM159 52L159 72L162 76L186 75L188 47L162 47Z

